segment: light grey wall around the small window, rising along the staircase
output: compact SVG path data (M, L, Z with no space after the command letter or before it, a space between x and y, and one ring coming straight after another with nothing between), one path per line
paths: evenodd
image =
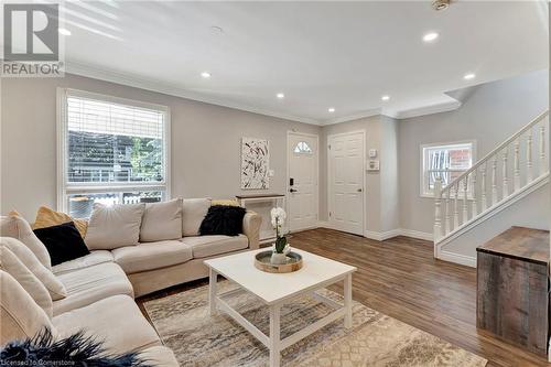
M420 147L476 140L483 158L548 109L548 72L536 72L468 90L463 106L450 112L400 120L398 145L401 227L432 234L434 201L420 197ZM530 217L529 212L525 213ZM530 220L526 223L530 225Z

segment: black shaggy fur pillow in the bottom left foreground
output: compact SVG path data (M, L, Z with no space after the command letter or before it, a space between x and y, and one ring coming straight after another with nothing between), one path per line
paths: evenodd
M0 348L0 366L153 367L138 353L107 354L102 343L84 332L54 341L47 328L33 338L12 341Z

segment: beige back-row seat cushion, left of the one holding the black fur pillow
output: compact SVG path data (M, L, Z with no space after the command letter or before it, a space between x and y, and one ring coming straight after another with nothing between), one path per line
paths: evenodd
M159 241L112 250L115 261L128 273L170 267L190 261L192 248L181 241Z

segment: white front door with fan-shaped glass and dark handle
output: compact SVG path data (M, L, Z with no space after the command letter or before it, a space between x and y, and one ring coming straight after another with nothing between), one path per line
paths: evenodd
M312 228L317 223L317 136L288 134L289 229Z

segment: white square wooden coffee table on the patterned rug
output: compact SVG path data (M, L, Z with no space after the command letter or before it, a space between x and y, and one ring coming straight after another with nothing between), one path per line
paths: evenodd
M266 249L205 260L205 265L210 269L208 301L210 314L215 314L218 309L224 311L270 349L271 367L280 365L281 350L339 317L344 316L345 327L352 327L352 273L356 271L355 267L293 249L293 251L299 252L303 258L304 266L302 269L283 274L269 273L255 268L255 255L259 251L266 251ZM217 294L216 283L218 274L237 283L240 288L224 294ZM344 281L344 305L315 293L316 290L341 281ZM240 291L241 289L256 295L264 306L270 309L269 336L223 300L223 296ZM334 307L335 311L300 332L281 339L281 306L284 303L292 302L294 298L304 294L310 294L323 301Z

